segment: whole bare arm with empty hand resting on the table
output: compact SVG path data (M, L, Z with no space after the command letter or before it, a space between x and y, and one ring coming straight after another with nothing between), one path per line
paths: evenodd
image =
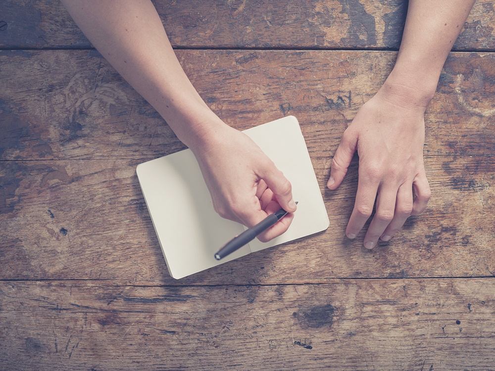
M410 0L396 64L380 90L358 111L332 160L327 186L337 188L354 152L359 181L346 235L355 238L376 211L364 237L373 248L388 241L430 198L423 163L424 113L442 67L474 0ZM414 195L413 195L414 190ZM415 196L415 197L414 197Z

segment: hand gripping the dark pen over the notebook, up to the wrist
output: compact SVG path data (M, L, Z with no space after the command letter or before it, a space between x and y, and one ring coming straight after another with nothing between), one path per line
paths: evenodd
M252 227L282 207L290 214L258 239L266 242L287 231L296 211L291 184L247 135L223 124L191 149L221 217Z

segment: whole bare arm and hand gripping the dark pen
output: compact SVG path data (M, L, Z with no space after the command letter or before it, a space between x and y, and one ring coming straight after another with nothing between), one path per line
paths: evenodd
M63 0L110 64L194 152L215 210L252 227L280 206L296 210L289 181L259 147L204 103L182 69L150 0ZM288 215L260 235L285 232Z

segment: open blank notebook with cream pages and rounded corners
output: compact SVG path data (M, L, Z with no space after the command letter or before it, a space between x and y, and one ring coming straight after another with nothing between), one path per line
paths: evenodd
M217 261L214 254L246 227L221 218L190 149L138 165L137 174L167 268L183 278L284 242L326 230L329 220L308 150L294 116L244 131L293 187L297 211L287 232L269 242L254 239Z

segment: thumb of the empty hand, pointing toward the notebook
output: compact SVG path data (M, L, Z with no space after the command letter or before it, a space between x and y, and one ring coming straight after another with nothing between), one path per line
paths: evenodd
M327 182L327 187L330 189L337 188L347 174L350 161L354 156L357 146L357 135L348 129L344 132L340 141L339 147L335 151L332 158L330 169L330 178Z

